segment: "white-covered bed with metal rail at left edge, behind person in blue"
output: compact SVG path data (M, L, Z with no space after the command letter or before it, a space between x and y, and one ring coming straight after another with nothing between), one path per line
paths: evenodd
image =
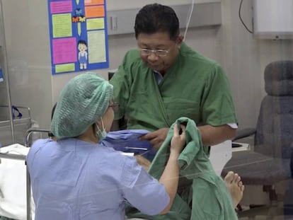
M0 216L18 220L31 220L34 216L35 206L25 158L35 133L40 134L40 138L45 138L45 134L46 138L50 136L49 129L29 128L23 136L24 145L0 148Z

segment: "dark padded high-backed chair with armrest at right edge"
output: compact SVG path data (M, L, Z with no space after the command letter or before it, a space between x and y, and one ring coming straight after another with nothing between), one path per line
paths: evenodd
M234 154L229 170L241 175L244 185L263 185L270 202L277 201L276 183L291 178L293 145L293 61L277 61L265 67L265 91L255 129L239 131L236 139L254 134L253 151Z

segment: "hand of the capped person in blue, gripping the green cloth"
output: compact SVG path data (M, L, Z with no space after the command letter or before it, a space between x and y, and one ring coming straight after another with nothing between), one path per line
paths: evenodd
M171 147L170 147L170 152L177 154L180 154L182 149L185 146L185 126L180 125L182 132L179 132L179 127L178 125L174 126L174 132L173 132L173 137L171 139Z

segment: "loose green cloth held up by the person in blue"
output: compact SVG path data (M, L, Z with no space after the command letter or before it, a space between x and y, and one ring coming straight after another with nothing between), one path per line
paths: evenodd
M136 209L130 208L127 209L127 216L154 220L238 219L224 180L214 172L212 164L203 150L200 132L195 122L187 117L180 117L178 121L180 123L187 122L185 133L186 146L178 158L180 176L193 180L192 185L186 188L185 192L180 196L176 195L171 212L165 215L147 216ZM171 126L166 140L163 142L149 168L149 174L158 180L168 160L170 143L173 137L173 126L176 123ZM192 202L191 210L188 205L190 202Z

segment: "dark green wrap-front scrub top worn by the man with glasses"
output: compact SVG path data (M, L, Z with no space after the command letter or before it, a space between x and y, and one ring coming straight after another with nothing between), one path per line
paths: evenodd
M114 100L120 103L115 119L126 115L127 129L153 132L170 127L179 117L189 117L199 126L236 123L224 70L185 43L159 85L137 49L125 54L110 83Z

